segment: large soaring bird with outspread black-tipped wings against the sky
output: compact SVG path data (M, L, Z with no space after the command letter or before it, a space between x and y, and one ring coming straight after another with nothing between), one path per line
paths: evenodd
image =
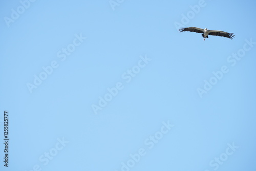
M196 32L196 33L203 33L202 36L204 37L204 40L205 40L205 38L208 38L208 35L222 36L222 37L227 37L227 38L231 38L231 39L233 39L233 37L234 37L233 33L227 33L227 32L219 31L219 30L208 30L207 28L200 29L197 27L187 27L187 28L180 28L179 31L180 32L190 31L190 32Z

